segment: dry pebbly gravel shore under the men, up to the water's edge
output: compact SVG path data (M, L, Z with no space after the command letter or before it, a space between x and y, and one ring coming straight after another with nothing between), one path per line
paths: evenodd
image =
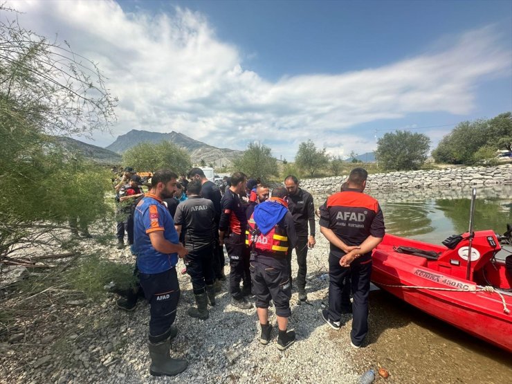
M93 235L94 232L92 232ZM99 235L99 234L96 234ZM349 345L350 316L345 327L334 331L320 316L320 303L327 297L327 241L319 235L309 250L307 292L309 304L298 302L293 289L289 329L297 341L282 352L277 345L277 322L273 340L259 343L255 309L232 307L228 282L210 308L210 318L190 318L186 311L194 302L188 275L179 274L181 300L176 322L178 336L171 354L186 358L188 369L174 378L149 375L147 331L149 305L138 303L134 312L115 306L118 295L104 300L68 300L48 306L35 316L20 318L17 330L0 342L2 383L355 383L376 362L367 358L368 348ZM128 247L116 250L93 239L82 240L85 250L99 250L116 262L131 264ZM293 262L296 275L297 263ZM182 264L179 264L181 270ZM229 266L226 266L226 273ZM254 299L252 299L254 302Z

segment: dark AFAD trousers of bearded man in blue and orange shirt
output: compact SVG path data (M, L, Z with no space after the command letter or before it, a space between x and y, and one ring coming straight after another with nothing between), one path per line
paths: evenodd
M149 342L161 342L170 336L176 319L179 282L176 268L162 273L139 273L140 285L149 302Z

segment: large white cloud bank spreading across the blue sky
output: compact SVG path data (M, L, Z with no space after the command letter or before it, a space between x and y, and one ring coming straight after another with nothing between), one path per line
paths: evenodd
M468 113L482 79L511 75L511 52L492 27L380 68L268 82L244 68L238 48L219 41L207 19L190 10L127 13L113 1L8 5L26 12L21 25L49 37L59 33L98 62L120 99L114 136L175 130L234 149L261 140L289 160L311 138L332 154L347 155L374 147L373 136L348 135L349 127L408 113ZM107 145L113 138L97 140Z

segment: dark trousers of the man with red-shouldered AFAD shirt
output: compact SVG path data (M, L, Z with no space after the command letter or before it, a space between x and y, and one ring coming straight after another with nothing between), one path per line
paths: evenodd
M350 275L351 291L354 295L350 338L355 345L361 345L368 333L368 295L371 274L371 255L361 256L346 268L340 266L338 257L329 253L329 319L335 322L341 319L341 313L344 310L342 295L345 277Z

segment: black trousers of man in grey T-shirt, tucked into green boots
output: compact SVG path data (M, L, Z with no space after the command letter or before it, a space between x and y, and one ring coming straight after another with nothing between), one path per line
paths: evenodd
M201 295L205 292L206 285L213 284L213 250L212 244L200 250L191 250L186 256L185 265L192 281L194 295Z

